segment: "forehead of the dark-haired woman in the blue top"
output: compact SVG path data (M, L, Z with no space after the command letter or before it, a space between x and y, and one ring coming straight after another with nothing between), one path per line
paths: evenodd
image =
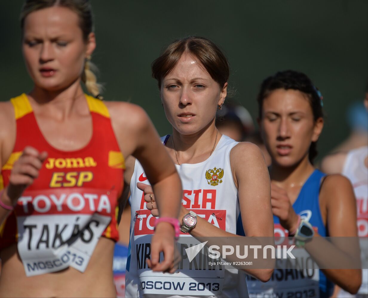
M308 97L299 90L277 89L263 100L265 112L312 112Z

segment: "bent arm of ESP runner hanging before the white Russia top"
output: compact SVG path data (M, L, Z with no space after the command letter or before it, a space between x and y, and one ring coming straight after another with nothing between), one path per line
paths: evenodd
M139 124L136 123L136 127L139 126L137 149L132 155L141 163L146 177L152 183L153 193L160 198L158 208L161 217L177 218L182 196L179 175L151 120L142 109L140 112L142 119ZM180 258L176 253L174 236L174 228L168 222L161 222L155 227L151 240L151 257L147 260L153 271L175 272ZM164 259L159 262L161 251Z

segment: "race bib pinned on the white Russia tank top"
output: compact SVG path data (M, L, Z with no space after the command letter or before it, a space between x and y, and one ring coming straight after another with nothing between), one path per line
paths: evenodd
M226 210L193 210L198 217L225 229ZM214 216L213 213L216 212ZM154 232L155 217L149 210L136 211L134 219L134 247L132 250L137 255L137 268L139 275L139 290L142 294L174 295L180 291L180 295L219 295L224 284L225 268L222 265L210 265L213 259L206 258L208 254L198 253L189 261L185 249L199 242L188 234L181 233L177 247L183 256L179 268L174 274L153 272L148 268L146 259L151 255L151 238ZM207 250L206 247L202 248ZM160 260L163 254L160 255Z

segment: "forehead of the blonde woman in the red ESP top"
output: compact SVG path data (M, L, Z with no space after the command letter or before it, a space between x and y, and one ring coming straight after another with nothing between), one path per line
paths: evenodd
M79 29L79 30L78 30ZM24 34L40 37L79 34L79 17L66 7L49 7L31 12L24 21Z

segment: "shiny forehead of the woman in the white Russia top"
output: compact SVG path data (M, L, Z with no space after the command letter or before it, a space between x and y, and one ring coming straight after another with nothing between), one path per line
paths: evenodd
M176 66L164 79L170 79L173 77L186 80L199 77L208 80L212 79L203 64L189 53L181 55Z

